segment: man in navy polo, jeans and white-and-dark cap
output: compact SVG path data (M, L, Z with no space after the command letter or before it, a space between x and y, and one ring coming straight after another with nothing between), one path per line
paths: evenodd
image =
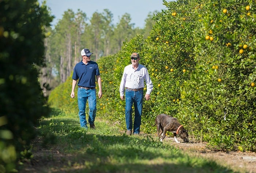
M77 63L73 72L73 82L72 82L72 91L70 94L71 98L75 98L75 86L78 81L78 108L79 108L79 119L81 127L87 127L85 108L86 101L88 99L89 104L89 118L88 122L90 128L95 129L94 120L96 117L96 84L95 76L99 86L98 97L102 97L102 88L101 88L101 76L99 74L98 64L94 61L91 61L91 53L89 49L84 48L81 51L82 61ZM79 80L78 80L79 79Z

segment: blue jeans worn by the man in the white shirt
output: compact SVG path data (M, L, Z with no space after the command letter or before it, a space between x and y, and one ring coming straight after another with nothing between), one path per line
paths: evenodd
M125 90L125 122L127 130L132 130L132 104L134 104L135 109L133 133L139 134L142 115L143 90Z

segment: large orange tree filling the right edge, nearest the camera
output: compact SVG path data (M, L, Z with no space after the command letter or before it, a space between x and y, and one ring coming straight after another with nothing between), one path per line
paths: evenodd
M255 151L255 1L206 1L178 117L214 149Z

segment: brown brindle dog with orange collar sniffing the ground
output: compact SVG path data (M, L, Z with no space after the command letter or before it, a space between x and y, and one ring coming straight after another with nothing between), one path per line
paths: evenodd
M188 140L188 132L184 129L184 127L178 122L177 118L173 118L170 115L166 114L159 114L155 118L155 124L152 126L157 125L157 135L162 142L165 138L166 131L170 131L174 134L175 142L180 143L177 140L176 134L183 139L184 142L189 142ZM161 131L160 131L161 129ZM159 133L160 131L160 133Z

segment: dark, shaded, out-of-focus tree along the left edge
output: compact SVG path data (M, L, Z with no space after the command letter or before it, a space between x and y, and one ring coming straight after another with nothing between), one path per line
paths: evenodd
M48 116L37 67L45 66L44 28L52 19L45 3L0 1L0 172L18 172L18 160L31 158L35 127Z

